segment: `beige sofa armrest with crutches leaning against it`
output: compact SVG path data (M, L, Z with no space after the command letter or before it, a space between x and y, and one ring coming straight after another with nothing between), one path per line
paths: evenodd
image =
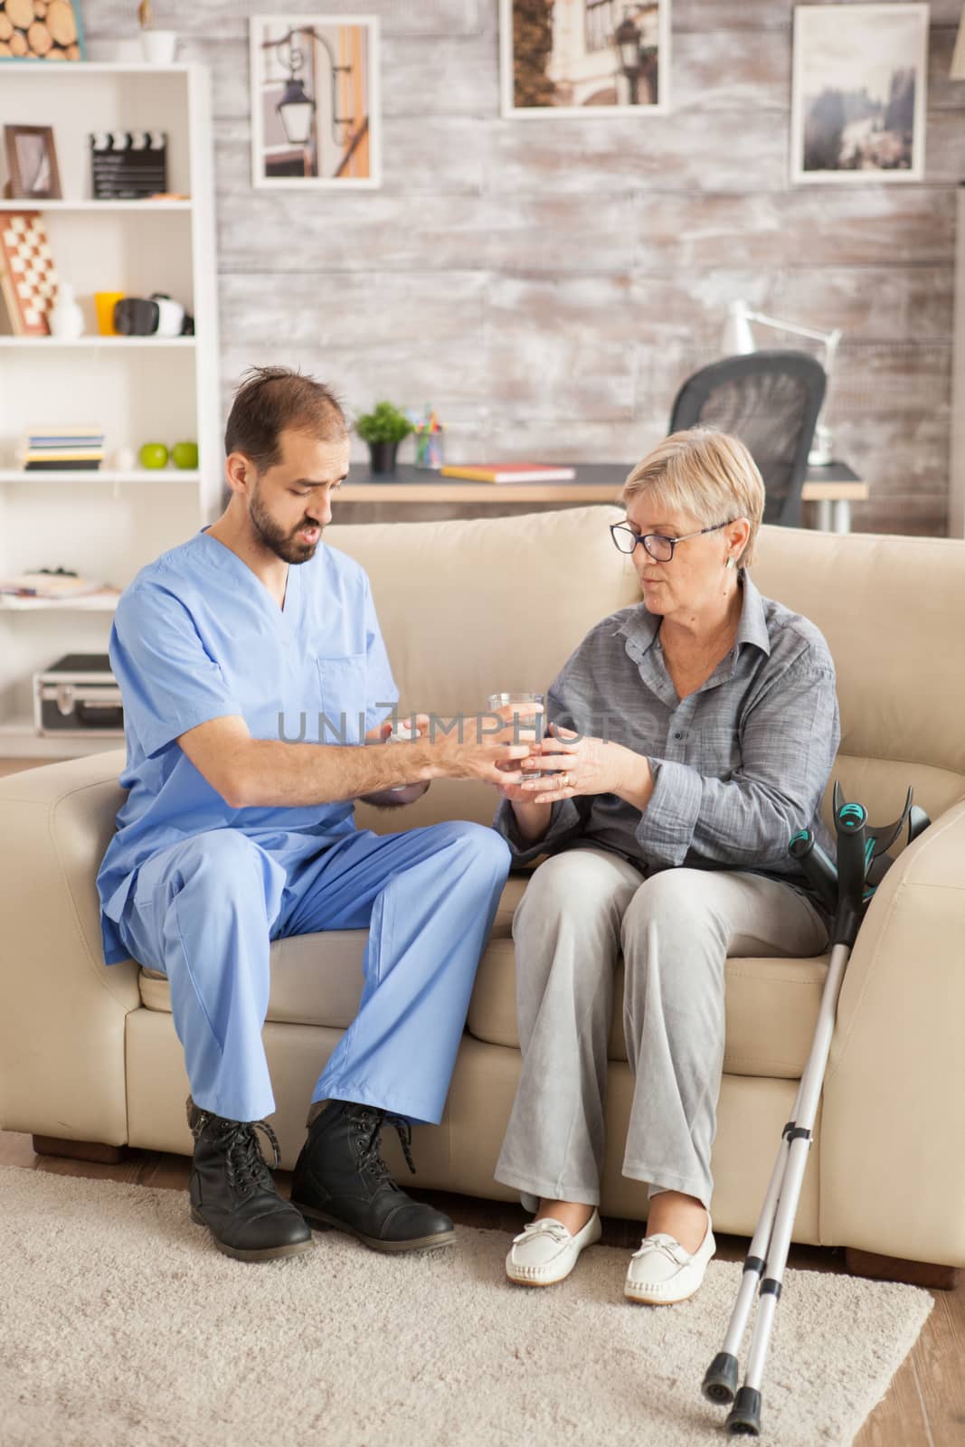
M965 799L888 870L838 1004L820 1237L965 1265Z

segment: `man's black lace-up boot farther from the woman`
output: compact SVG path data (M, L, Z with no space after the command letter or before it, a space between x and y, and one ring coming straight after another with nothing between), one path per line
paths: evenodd
M282 1201L262 1156L256 1130L263 1130L279 1163L275 1132L263 1120L224 1120L201 1110L188 1095L194 1163L188 1191L191 1220L207 1226L226 1256L243 1262L295 1256L313 1246L301 1214Z

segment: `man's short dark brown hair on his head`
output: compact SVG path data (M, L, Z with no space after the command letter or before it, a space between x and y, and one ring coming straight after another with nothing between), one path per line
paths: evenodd
M285 366L253 366L242 378L224 428L224 454L250 457L259 472L281 460L284 431L336 443L349 436L339 398L314 376Z

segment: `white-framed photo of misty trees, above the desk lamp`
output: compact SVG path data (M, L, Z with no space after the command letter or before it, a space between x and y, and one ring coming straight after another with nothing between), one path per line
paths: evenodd
M793 184L923 181L927 4L794 10Z

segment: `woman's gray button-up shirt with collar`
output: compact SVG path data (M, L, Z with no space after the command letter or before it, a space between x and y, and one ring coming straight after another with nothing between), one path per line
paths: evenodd
M564 799L532 845L503 800L495 828L515 864L589 844L642 874L744 870L813 900L787 845L809 828L833 857L820 803L841 741L835 666L812 622L761 598L747 572L741 582L735 645L683 700L664 664L660 615L644 603L586 635L550 686L547 722L645 754L654 792L642 813L616 794Z

